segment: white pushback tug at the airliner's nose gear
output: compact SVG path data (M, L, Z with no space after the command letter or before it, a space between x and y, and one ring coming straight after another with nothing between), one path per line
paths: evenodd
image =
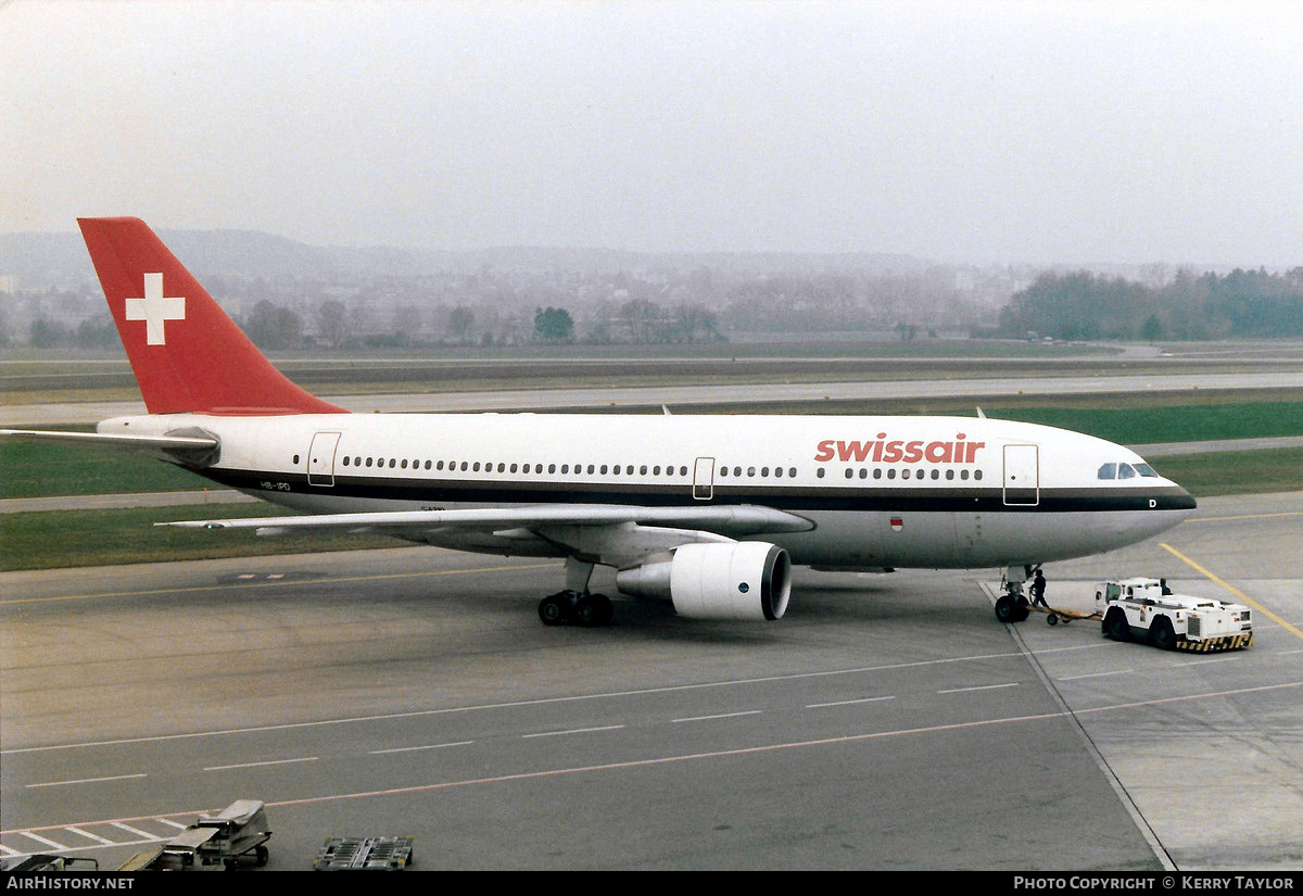
M1166 593L1157 578L1123 578L1096 586L1104 633L1114 641L1147 639L1161 650L1238 650L1253 643L1248 607Z

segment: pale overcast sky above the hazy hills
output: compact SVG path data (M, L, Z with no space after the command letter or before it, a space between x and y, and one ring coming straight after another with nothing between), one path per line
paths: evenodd
M1303 264L1303 3L0 0L0 232Z

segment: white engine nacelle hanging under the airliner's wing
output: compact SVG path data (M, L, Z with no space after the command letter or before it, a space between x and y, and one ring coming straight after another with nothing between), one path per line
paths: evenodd
M661 598L689 619L775 620L787 612L792 561L766 542L683 544L667 560L622 569L625 594Z

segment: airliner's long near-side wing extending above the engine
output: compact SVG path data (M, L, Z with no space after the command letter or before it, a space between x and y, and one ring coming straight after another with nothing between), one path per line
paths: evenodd
M808 531L804 517L760 505L627 507L534 504L513 508L324 513L294 517L158 522L182 529L253 529L259 535L337 530L394 535L448 547L473 542L500 553L573 555L623 565L694 542L731 542Z

